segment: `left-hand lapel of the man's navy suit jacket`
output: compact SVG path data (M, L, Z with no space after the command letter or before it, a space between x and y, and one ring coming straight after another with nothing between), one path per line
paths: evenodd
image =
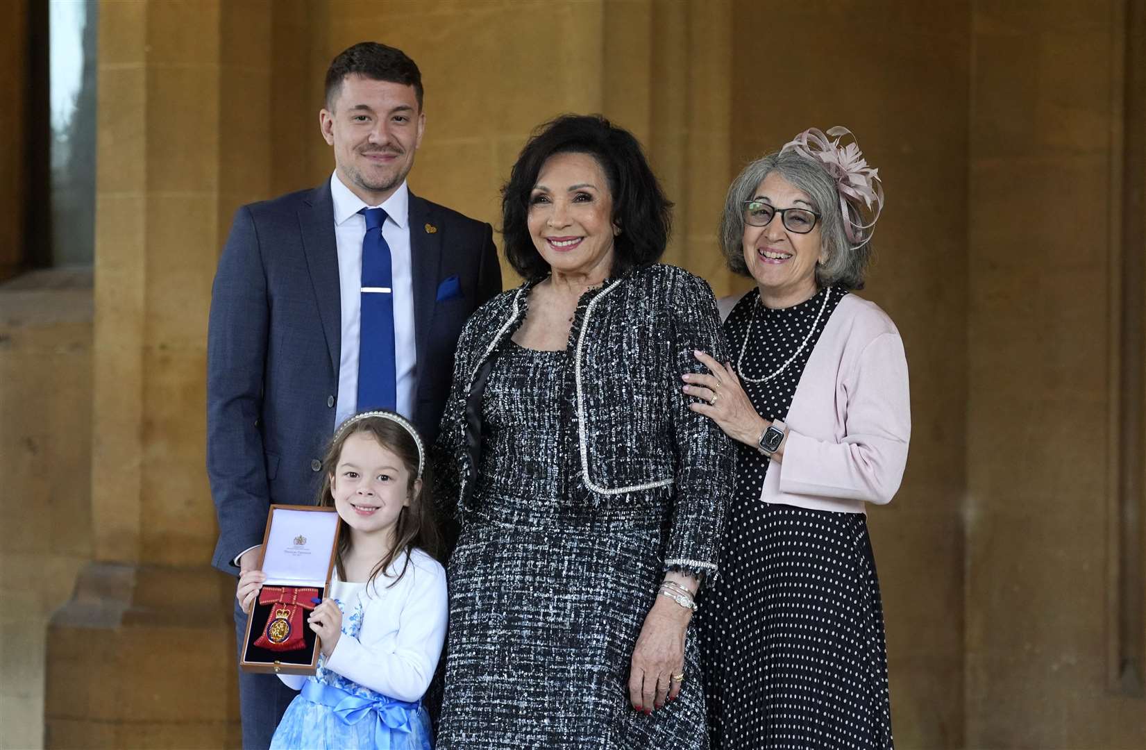
M298 210L298 221L322 331L330 352L330 367L337 378L342 359L343 303L338 283L338 244L335 241L335 203L330 197L329 182L315 188L304 200Z

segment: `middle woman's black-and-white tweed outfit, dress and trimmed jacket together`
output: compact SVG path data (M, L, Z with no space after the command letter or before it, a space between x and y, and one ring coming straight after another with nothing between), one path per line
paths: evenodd
M545 352L512 341L535 283L466 322L433 450L461 523L438 750L701 750L694 627L676 701L638 713L627 686L665 573L716 570L732 448L681 391L693 351L728 359L716 299L637 268L581 295L565 351Z

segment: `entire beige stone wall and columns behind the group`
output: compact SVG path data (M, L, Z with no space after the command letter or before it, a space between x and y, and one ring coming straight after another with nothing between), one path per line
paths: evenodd
M36 1L0 3L9 206ZM416 192L496 224L531 128L604 112L676 201L668 261L717 294L739 166L857 133L888 195L864 295L912 378L870 515L896 744L1146 748L1143 6L103 0L94 274L13 275L0 212L0 748L237 745L211 280L238 205L329 174L322 76L362 39L422 68Z

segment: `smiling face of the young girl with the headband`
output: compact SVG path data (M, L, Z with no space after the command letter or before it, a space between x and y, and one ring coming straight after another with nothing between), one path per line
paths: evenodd
M355 432L343 443L330 494L353 540L360 534L390 534L421 483L417 479L411 487L410 470L393 451L367 432Z

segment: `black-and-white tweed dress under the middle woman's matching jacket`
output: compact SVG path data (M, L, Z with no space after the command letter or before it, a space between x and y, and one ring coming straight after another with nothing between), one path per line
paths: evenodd
M449 561L441 749L707 747L699 680L652 716L629 661L664 577L668 516L568 500L565 351L515 343L481 399L474 506ZM690 633L685 671L700 673Z

